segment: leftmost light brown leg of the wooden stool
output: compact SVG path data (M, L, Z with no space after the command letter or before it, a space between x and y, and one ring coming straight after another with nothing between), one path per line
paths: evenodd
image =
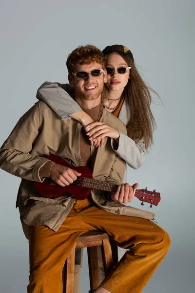
M75 248L76 245L73 247L71 253L67 257L64 265L63 293L73 293L74 291Z

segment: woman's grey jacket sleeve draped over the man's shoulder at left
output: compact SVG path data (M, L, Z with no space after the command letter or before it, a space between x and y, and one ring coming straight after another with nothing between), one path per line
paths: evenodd
M74 92L69 84L49 83L41 84L37 91L37 99L47 104L62 119L70 119L68 116L82 109L70 96Z

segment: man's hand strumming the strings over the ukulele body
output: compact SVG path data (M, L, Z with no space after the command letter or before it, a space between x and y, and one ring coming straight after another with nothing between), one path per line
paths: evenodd
M81 173L78 173L76 170L56 163L53 163L50 169L51 179L62 187L70 185L80 175Z

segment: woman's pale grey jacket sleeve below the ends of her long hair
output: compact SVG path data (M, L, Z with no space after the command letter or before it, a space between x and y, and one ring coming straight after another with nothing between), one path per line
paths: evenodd
M138 169L145 161L146 148L142 141L137 144L133 139L119 131L118 146L114 139L111 139L111 146L113 150L120 156L129 167Z

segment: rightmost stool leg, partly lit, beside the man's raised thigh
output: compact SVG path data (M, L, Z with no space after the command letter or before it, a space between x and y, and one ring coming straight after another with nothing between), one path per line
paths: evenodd
M112 255L109 239L102 240L101 251L102 251L104 272L105 272L105 276L107 276L107 274L109 274L109 272L111 272L114 269L113 255Z

